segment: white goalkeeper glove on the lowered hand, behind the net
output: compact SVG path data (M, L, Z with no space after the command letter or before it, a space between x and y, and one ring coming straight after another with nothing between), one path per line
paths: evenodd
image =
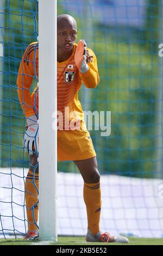
M37 123L36 115L31 115L27 118L27 131L24 135L24 148L29 155L33 155L34 151L38 150L39 139L39 124Z

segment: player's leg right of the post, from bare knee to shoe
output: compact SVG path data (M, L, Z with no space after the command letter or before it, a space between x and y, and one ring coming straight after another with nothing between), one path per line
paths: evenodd
M74 161L84 180L84 202L87 211L87 242L128 242L127 237L102 233L99 228L101 216L100 175L96 157Z

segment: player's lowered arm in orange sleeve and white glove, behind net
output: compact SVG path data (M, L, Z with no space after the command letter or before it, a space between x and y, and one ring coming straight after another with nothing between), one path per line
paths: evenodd
M33 149L37 151L38 124L34 111L34 103L30 93L30 87L35 76L37 44L30 44L23 54L17 76L17 94L23 113L26 116L28 129L24 135L24 148L30 155Z

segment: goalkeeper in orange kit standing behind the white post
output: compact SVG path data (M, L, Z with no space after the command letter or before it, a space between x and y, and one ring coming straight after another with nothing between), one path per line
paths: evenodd
M82 106L78 100L78 90L82 82L87 88L95 88L99 83L97 59L84 40L77 39L77 23L70 15L57 17L57 105L63 122L58 126L58 160L73 161L84 180L84 202L87 211L87 234L89 242L128 242L126 237L102 233L99 227L101 216L100 175L97 168L96 153L89 132L84 124ZM46 46L45 46L46 47ZM47 46L48 47L48 46ZM27 120L24 135L24 148L29 154L29 172L26 178L26 207L28 231L27 240L39 237L37 226L39 203L39 168L37 163L38 112L39 102L36 88L30 94L33 77L38 74L39 43L30 44L23 54L17 77L17 91ZM45 84L48 90L48 84ZM67 116L68 107L70 116ZM68 118L67 125L65 120ZM58 123L61 124L58 119ZM71 125L73 123L73 129ZM74 129L76 126L76 129ZM46 179L46 177L45 177Z

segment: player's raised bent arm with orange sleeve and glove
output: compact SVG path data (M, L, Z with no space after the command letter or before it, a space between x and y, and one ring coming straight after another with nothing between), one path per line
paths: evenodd
M93 51L86 51L84 40L79 40L74 59L85 86L95 88L99 83L97 59Z

